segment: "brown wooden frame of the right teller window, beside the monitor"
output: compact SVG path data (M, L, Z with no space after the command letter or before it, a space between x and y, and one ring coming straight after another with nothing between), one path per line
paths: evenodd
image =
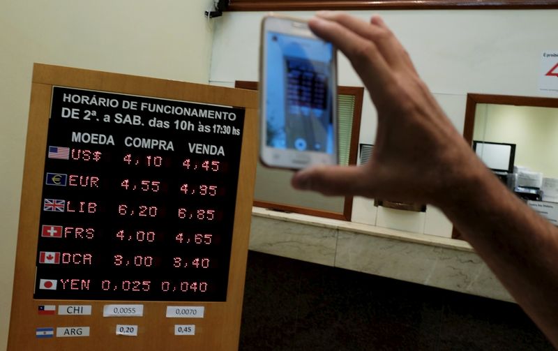
M467 105L465 107L465 124L463 126L463 138L469 145L473 144L473 132L475 127L476 105L488 103L494 105L515 105L532 107L558 108L558 98L538 98L531 96L490 95L490 94L467 94ZM453 227L452 239L462 239L461 233Z

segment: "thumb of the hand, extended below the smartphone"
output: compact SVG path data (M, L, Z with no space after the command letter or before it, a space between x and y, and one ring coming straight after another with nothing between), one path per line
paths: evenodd
M317 191L324 195L365 195L363 167L315 166L296 172L291 184L299 190Z

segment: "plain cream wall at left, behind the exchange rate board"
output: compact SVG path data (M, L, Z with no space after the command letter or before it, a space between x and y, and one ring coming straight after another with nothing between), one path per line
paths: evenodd
M33 62L207 83L212 0L2 0L0 349L5 349Z

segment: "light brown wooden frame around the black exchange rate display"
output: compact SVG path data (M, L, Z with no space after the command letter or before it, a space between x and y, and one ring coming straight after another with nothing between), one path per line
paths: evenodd
M39 216L42 209L45 148L52 87L73 87L118 94L149 96L243 107L239 182L234 213L232 251L225 302L43 301L33 299ZM8 350L236 350L239 343L248 237L257 160L257 93L171 80L36 64L33 70L25 151L20 225ZM141 318L103 318L106 304L143 304ZM38 315L43 304L88 304L91 315ZM165 317L165 306L204 306L205 317L177 321ZM119 336L115 324L138 324L135 337ZM175 336L175 324L195 324L195 335ZM40 327L89 326L89 337L37 338ZM141 327L143 326L143 327Z

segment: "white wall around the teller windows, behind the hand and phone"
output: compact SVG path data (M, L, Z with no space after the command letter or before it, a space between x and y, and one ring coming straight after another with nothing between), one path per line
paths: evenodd
M368 20L372 12L354 11ZM557 50L558 10L392 10L375 11L400 38L421 77L453 124L462 131L467 93L518 96L558 94L538 91L543 50ZM289 15L310 17L310 12ZM259 22L264 13L227 13L216 22L210 80L232 85L257 80ZM339 84L361 86L345 57L339 59ZM375 109L363 105L361 142L373 143ZM407 214L379 209L355 198L353 221L399 230L451 235L441 211Z

